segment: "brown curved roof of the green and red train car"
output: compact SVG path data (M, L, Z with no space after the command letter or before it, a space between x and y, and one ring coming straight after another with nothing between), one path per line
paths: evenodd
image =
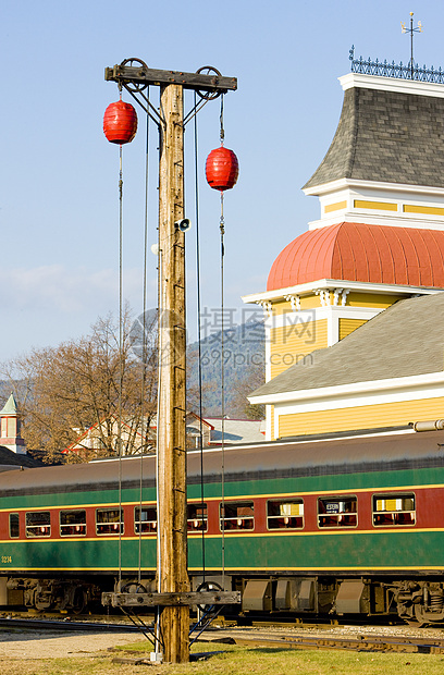
M444 466L444 431L412 430L330 440L291 440L206 450L205 482L328 476L400 468ZM200 453L188 452L188 484L200 482ZM18 493L81 492L112 489L120 478L137 487L153 487L156 457L124 457L0 474L0 496Z

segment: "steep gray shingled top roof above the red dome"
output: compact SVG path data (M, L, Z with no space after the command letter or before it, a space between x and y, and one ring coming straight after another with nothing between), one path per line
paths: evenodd
M340 179L444 187L444 98L354 87L304 187Z

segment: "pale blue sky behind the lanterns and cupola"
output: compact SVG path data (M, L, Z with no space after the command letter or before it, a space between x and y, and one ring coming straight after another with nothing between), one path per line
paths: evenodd
M0 163L0 360L55 345L118 309L119 149L102 134L118 98L106 66L137 57L151 68L213 65L238 78L225 97L225 145L239 160L225 197L225 305L266 287L280 250L319 217L300 187L326 152L341 113L337 77L357 56L407 62L400 21L422 22L415 56L444 66L442 1L3 0ZM186 110L192 106L192 95ZM157 91L151 97L156 101ZM126 100L131 100L126 95ZM219 145L219 102L199 114L202 305L219 306L219 194L205 159ZM141 310L145 120L124 148L124 295ZM186 139L186 214L194 220L193 124ZM150 244L157 236L156 128L151 126ZM420 151L420 148L418 148ZM196 335L195 229L186 236L189 334ZM149 254L148 307L156 306ZM214 319L215 320L215 319Z

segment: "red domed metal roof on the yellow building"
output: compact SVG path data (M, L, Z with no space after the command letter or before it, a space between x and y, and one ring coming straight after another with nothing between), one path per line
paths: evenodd
M267 291L321 279L444 287L444 231L338 223L305 232L274 260Z

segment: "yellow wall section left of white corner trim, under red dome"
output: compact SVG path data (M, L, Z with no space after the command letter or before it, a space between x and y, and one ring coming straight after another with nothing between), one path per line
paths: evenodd
M314 349L326 347L326 319L270 331L271 377L275 378Z

